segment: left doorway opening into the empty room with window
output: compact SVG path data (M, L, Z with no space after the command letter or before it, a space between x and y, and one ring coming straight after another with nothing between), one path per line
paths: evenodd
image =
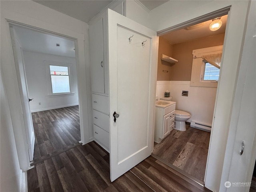
M29 103L24 121L32 127L25 125L33 165L80 144L76 42L24 26L10 29L22 103Z

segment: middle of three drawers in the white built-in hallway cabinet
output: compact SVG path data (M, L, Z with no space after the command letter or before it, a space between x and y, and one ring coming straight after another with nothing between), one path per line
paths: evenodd
M109 116L96 110L92 110L92 115L93 123L109 133Z

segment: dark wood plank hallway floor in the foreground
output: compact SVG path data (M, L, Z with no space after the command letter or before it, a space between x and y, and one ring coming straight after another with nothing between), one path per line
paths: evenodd
M29 192L210 192L152 156L110 182L109 154L80 145L28 170Z

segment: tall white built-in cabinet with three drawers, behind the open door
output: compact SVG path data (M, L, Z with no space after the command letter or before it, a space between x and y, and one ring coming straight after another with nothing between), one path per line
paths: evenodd
M108 60L106 22L98 18L89 26L94 140L109 152Z

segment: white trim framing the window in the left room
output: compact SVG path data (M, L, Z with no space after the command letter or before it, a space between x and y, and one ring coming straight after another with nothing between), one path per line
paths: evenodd
M44 64L46 66L46 79L47 79L47 88L48 88L48 95L49 97L56 97L56 96L72 96L74 95L73 92L73 75L72 75L72 70L71 63L64 63L64 62L55 62L55 61L44 61ZM69 88L70 92L62 92L62 93L53 93L52 92L52 78L50 74L50 65L52 66L63 66L63 67L68 67L68 77L69 77Z

